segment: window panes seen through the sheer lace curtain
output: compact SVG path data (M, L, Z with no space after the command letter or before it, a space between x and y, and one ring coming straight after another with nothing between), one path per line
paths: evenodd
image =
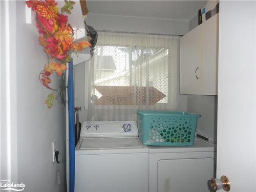
M112 89L112 91L122 90L124 95L132 95L133 89L129 88L136 86L142 92L143 88L150 88L149 104L167 103L168 49L97 46L94 54L94 85L98 99L102 97L97 90L98 86L106 86L106 89ZM146 58L146 61L143 62L144 59L141 57ZM141 74L138 74L139 72ZM126 89L123 88L124 86ZM139 95L136 97L138 99ZM117 94L116 99L118 99ZM141 104L147 104L145 97L142 96L141 99ZM124 97L122 100L127 104ZM112 104L115 103L120 102L112 102ZM132 104L132 102L128 103Z

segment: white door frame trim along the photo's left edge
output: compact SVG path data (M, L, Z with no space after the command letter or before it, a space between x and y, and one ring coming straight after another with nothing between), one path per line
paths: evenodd
M17 181L16 2L1 1L1 179Z

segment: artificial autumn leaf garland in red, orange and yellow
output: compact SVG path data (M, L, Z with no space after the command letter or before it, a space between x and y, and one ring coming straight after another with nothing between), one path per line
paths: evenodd
M29 0L26 1L26 4L36 12L38 40L48 56L48 65L40 72L39 79L47 89L52 90L45 100L45 104L50 109L54 99L58 97L54 95L54 92L58 93L58 90L49 86L50 75L54 72L58 76L63 75L63 71L67 70L66 63L71 60L71 53L90 47L91 44L88 41L73 43L74 32L70 24L67 24L68 16L63 13L71 14L75 2L65 0L65 6L61 8L61 13L58 12L57 3L54 0Z

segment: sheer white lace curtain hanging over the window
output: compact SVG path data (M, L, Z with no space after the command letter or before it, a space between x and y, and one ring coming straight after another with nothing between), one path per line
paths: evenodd
M88 120L136 120L136 110L177 110L179 37L98 32Z

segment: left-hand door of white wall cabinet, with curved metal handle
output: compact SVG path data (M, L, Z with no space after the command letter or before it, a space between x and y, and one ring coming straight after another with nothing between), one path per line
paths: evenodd
M180 94L201 93L201 27L180 39Z

